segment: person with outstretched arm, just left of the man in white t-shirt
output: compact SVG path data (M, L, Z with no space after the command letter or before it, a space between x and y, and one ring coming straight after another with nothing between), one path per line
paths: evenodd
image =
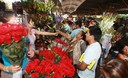
M64 36L65 38L71 40L72 43L72 47L73 47L73 52L71 52L71 54L69 55L72 59L73 59L73 64L76 65L79 62L79 58L81 56L82 53L84 53L85 49L86 49L86 41L85 41L85 32L84 31L80 31L75 38L68 38L71 37L70 35L57 30L57 32L59 34L61 34L62 36Z

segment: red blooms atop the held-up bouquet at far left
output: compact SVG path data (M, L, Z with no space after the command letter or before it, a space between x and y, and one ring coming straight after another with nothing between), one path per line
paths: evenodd
M22 36L26 36L27 33L27 28L21 24L4 23L0 26L0 45L4 43L10 44L13 40L19 42Z

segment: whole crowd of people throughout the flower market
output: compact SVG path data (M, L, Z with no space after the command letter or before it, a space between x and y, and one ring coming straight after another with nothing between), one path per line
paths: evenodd
M73 44L73 51L69 57L73 60L73 65L76 69L74 78L102 78L103 76L103 78L127 78L128 38L126 35L115 43L116 46L111 48L111 52L118 51L118 54L111 58L107 63L101 62L99 70L101 70L102 73L99 77L96 77L95 71L99 59L104 52L100 43L102 31L95 19L78 19L75 22L71 20L63 20L60 28L63 28L64 31L58 30L56 23L54 23L53 28L55 28L56 32L39 31L35 29L34 22L30 17L27 17L26 20L27 23L25 26L28 28L27 37L30 41L28 46L29 50L26 53L26 58L28 59L23 62L24 66L13 66L11 64L8 66L6 64L8 62L2 57L3 53L2 50L0 50L1 78L12 78L12 74L6 72L15 73L21 70L21 68L23 69L23 72L25 72L24 69L28 62L32 60L31 58L33 58L35 54L39 54L39 50L35 46L36 35L49 35L55 37L61 35L61 37ZM3 23L17 23L15 13L4 13L0 19L0 25ZM104 60L106 61L106 59Z

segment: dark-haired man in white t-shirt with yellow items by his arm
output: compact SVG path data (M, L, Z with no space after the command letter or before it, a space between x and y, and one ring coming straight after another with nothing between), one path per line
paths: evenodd
M99 27L92 26L86 33L86 41L89 43L84 54L80 58L77 78L95 78L95 69L101 55L101 45L98 42L102 32Z

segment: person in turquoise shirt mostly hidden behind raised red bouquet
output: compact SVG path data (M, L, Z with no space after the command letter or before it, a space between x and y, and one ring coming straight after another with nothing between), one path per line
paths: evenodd
M12 11L7 11L7 12L4 12L4 15L3 15L3 17L1 17L0 22L9 23L9 24L17 24L16 21L18 21L18 20L16 19L15 13ZM3 54L1 49L0 49L0 53L2 55L2 60L3 60L3 64L0 63L0 69L2 70L1 78L12 78L13 77L12 73L18 72L19 70L21 70L21 68L24 69L23 67L26 66L25 60L23 60L21 67L14 66L10 63L9 59ZM31 56L31 54L30 54L30 56ZM26 57L24 57L24 59L26 59ZM22 73L21 73L21 75L22 75ZM19 76L17 78L22 78L22 77Z

